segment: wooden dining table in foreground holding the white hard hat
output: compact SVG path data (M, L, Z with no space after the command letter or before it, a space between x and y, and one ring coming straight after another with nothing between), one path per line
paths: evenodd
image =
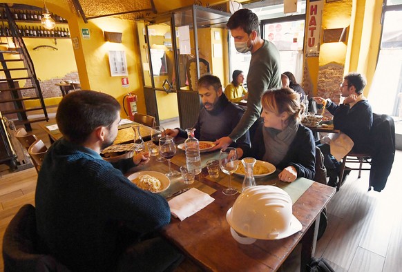
M294 203L293 214L303 229L281 240L257 240L249 245L239 244L231 236L226 220L227 211L239 193L224 195L222 189L228 185L228 176L220 172L218 179L213 179L204 167L208 159L218 158L219 151L201 153L202 173L190 185L209 193L215 200L183 221L172 217L171 223L162 229L162 235L206 271L276 271L301 242L300 271L305 271L306 264L314 255L320 213L334 196L335 188L300 177L292 183L281 182L278 171L256 178L257 185L274 185L289 193ZM171 162L172 168L178 170L179 166L185 164L184 151L178 149ZM166 163L157 163L152 158L151 163L141 166L137 171L166 173L167 169ZM232 186L239 188L239 191L242 179L241 175L232 175ZM169 190L162 195L170 195L188 186L180 176L171 178Z

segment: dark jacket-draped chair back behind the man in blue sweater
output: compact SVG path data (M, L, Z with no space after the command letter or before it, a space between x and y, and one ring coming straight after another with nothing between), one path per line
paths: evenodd
M68 272L46 250L39 249L35 207L23 205L8 224L3 236L4 271L58 271Z

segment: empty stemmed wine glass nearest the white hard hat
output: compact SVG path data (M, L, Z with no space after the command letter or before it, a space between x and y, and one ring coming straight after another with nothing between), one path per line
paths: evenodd
M229 175L229 187L224 188L222 193L225 195L234 195L238 192L238 189L231 186L231 174L233 174L238 168L239 160L236 148L228 147L222 148L219 155L219 166L222 172Z

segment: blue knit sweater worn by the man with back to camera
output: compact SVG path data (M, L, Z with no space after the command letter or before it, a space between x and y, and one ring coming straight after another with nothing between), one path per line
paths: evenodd
M109 271L124 251L124 230L141 235L169 224L160 195L132 184L95 151L61 139L49 148L35 195L37 231L50 253L73 271ZM119 168L119 169L117 169Z

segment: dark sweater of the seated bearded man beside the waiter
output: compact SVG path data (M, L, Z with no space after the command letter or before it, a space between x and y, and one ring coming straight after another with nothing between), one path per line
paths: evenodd
M245 110L241 106L233 104L227 99L226 95L222 93L216 105L213 107L213 110L206 110L202 107L197 122L194 125L194 136L200 141L215 142L216 139L231 133L242 118L243 113L245 113ZM178 136L186 138L186 131L181 128L178 129L180 130ZM249 131L247 130L247 133L242 135L236 143L233 142L231 146L249 148Z

